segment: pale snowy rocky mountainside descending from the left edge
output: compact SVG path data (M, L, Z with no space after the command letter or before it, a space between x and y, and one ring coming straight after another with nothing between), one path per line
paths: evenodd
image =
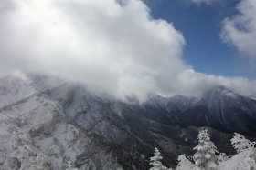
M7 105L0 108L0 169L62 170L69 160L82 170L121 169L97 137L67 123L61 107L33 95L28 82L5 77L0 89L0 104Z

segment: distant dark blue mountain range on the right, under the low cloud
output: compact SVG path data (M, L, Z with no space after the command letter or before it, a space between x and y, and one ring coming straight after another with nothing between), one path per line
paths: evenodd
M222 86L198 97L150 96L143 106L147 116L167 125L209 126L228 133L256 135L256 100Z

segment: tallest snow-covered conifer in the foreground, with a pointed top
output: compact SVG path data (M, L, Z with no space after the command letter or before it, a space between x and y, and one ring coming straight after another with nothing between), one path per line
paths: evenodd
M198 145L194 147L196 150L194 155L196 170L215 170L217 169L217 155L218 150L213 142L210 141L208 130L199 131Z

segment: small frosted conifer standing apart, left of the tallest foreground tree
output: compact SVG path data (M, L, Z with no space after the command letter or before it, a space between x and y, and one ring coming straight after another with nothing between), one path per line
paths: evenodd
M167 170L167 168L161 163L163 157L160 155L160 151L155 147L154 156L150 158L149 165L153 167L150 170Z

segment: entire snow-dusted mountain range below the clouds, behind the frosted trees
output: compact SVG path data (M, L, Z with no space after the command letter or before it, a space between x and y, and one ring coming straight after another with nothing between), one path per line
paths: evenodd
M6 76L0 117L0 169L58 170L70 160L79 169L143 170L155 146L168 166L191 155L201 126L228 154L230 133L256 136L256 101L224 87L134 104L56 77Z

